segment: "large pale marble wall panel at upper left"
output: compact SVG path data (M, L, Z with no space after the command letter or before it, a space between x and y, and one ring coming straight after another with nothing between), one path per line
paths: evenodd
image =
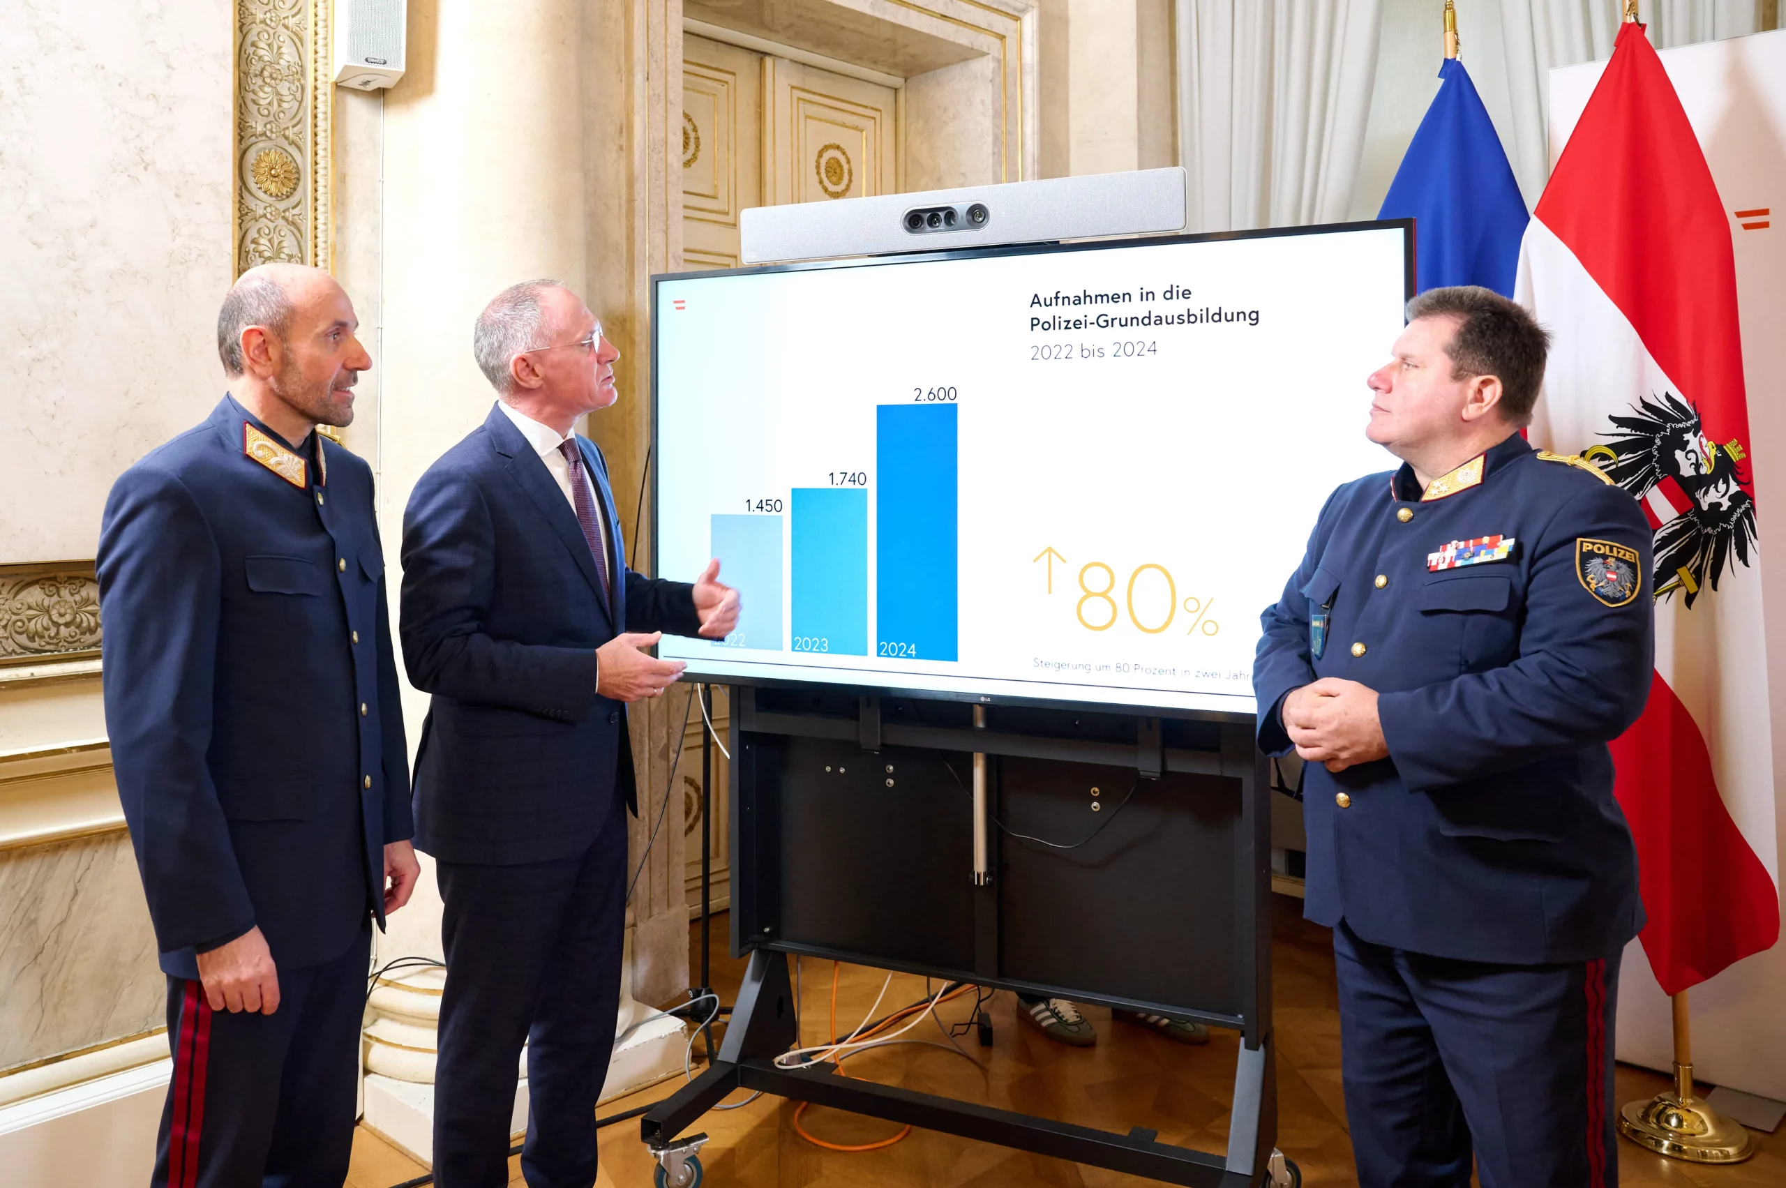
M113 479L221 393L229 0L0 21L0 563L91 557Z

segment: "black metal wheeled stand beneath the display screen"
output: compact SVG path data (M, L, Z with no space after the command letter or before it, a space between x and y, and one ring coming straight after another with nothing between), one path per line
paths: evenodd
M702 693L704 699L707 693ZM759 706L759 697L772 702ZM852 1113L911 1124L981 1142L1000 1143L1045 1156L1106 1167L1132 1175L1143 1175L1172 1184L1198 1188L1241 1188L1268 1181L1268 1161L1277 1138L1277 1086L1272 1058L1270 1011L1270 813L1264 761L1254 749L1250 722L1172 722L1134 718L1098 711L1059 713L1004 711L997 725L973 707L972 724L964 718L968 706L922 702L902 699L888 702L886 715L877 697L850 697L854 715L838 713L836 693L802 695L755 688L734 688L730 700L730 799L732 799L732 952L750 954L750 966L730 1011L730 1025L709 1068L680 1092L654 1106L641 1120L641 1138L655 1149L672 1145L682 1131L734 1090L761 1090L795 1100L832 1106ZM707 702L704 700L704 706ZM1000 711L993 711L1000 713ZM939 720L941 718L941 720ZM1070 722L1070 725L1068 725ZM1084 729L1082 729L1084 727ZM1177 743L1177 745L1175 745ZM711 866L711 736L702 738L702 983L707 977L707 916ZM866 752L866 754L864 754ZM873 872L850 863L850 856L825 856L814 861L813 840L836 838L836 822L827 820L839 802L852 811L873 811L872 797L902 795L907 802L900 811L923 815L922 827L934 829L939 811L934 797L945 800L966 791L939 779L909 781L913 763L927 756L948 763L948 756L968 756L975 761L991 759L989 784L998 784L998 765L1022 768L1031 784L1045 782L1050 774L1127 770L1138 781L1161 781L1168 797L1154 797L1156 816L1129 822L1129 834L1139 840L1113 841L1123 845L1116 858L1102 863L1084 863L1068 870L1059 858L1039 854L1025 858L1013 852L1000 863L998 841L993 834L989 849L991 868L1025 874L1031 879L1013 891L1000 888L991 877L973 879L963 891L966 870L954 865L956 874L931 875L925 893L931 900L909 904L907 890L875 886ZM836 763L823 763L836 757ZM859 759L857 759L859 757ZM841 781L845 761L859 763L861 774L872 765L875 779ZM1036 763L1039 761L1039 763ZM823 775L818 775L823 766ZM832 772L832 766L838 772ZM886 766L884 793L880 766ZM909 781L895 788L898 779ZM975 766L979 774L988 768ZM950 774L954 768L950 766ZM957 775L959 781L959 775ZM1238 795L1234 784L1238 782ZM913 788L916 784L916 788ZM1141 788L1136 782L1136 788ZM941 790L941 791L938 791ZM1039 793L1025 791L1023 804L1032 804ZM931 797L931 800L925 800ZM1164 804L1157 804L1164 800ZM1023 807L1013 802L1004 811ZM1116 806L1111 806L1113 813ZM981 807L977 813L997 809ZM1141 813L1141 809L1134 809ZM1161 829L1157 822L1179 822L1179 832ZM1184 832L1184 820L1191 832ZM891 818L877 816L877 824L891 825ZM1082 818L1073 818L1082 820ZM1114 822L1107 822L1114 825ZM984 832L984 818L981 818ZM1002 827L1002 822L1000 822ZM830 829L832 832L825 832ZM1156 841L1154 829L1163 841ZM1189 838L1189 841L1186 841ZM911 845L947 850L938 863L952 865L964 858L954 834L911 834ZM914 854L927 850L898 850L900 838L886 838L893 849L889 861L904 866L914 863ZM1147 847L1154 845L1154 850ZM1159 854L1161 845L1179 845L1189 852ZM1200 849L1198 849L1200 847ZM984 843L982 843L984 849ZM1016 850L1016 847L1011 847ZM872 854L873 850L863 850ZM1118 861L1120 859L1120 861ZM923 865L929 859L918 859ZM977 852L975 861L984 861ZM1023 863L1029 863L1025 868ZM1038 865L1038 863L1056 863ZM1152 863L1152 865L1150 865ZM1164 863L1164 865L1161 865ZM1202 865L1200 865L1202 863ZM938 866L939 868L939 866ZM1182 883L1161 879L1157 872L1173 868L1206 870L1225 886L1206 900L1186 904L1200 916L1193 922L1200 950L1191 963L1182 952L1170 956L1170 968L1157 961L1152 968L1132 972L1109 968L1084 954L1068 954L1057 974L1036 974L1056 956L1048 945L1025 941L1022 925L1011 927L1022 913L1023 900L1034 897L1034 879L1084 879L1086 870L1109 886L1111 895L1152 893L1163 883L1170 884L1157 908L1170 908L1172 891ZM1039 872L1039 874L1038 874ZM1139 874L1134 874L1139 872ZM813 879L829 881L838 895L813 895ZM959 879L959 884L956 883ZM1138 883L1139 879L1139 883ZM947 884L947 886L945 886ZM1082 895L1084 883L1073 895ZM1207 884L1206 879L1206 886ZM970 924L959 936L932 943L925 929L936 929L941 915L936 897L966 906ZM814 899L841 899L845 902L814 911ZM1225 911L1223 911L1225 908ZM825 913L830 915L825 915ZM895 913L895 915L889 915ZM900 915L904 913L904 915ZM959 915L959 913L956 913ZM1145 929L1159 929L1168 915L1129 913L1141 916ZM911 929L886 931L889 918L913 916ZM1111 924L1102 916L1086 916ZM1079 924L1079 931L1098 924ZM839 929L843 929L839 933ZM882 940L886 938L886 940ZM916 947L914 947L916 945ZM1068 943L1068 949L1072 943ZM1172 949L1172 945L1166 945ZM1131 952L1123 947L1122 952ZM988 988L1045 993L1082 1002L1100 1002L1114 1008L1164 1013L1179 1018L1197 1018L1241 1033L1239 1059L1234 1072L1234 1108L1225 1154L1211 1154L1156 1142L1156 1133L1134 1127L1127 1134L1098 1131L1056 1122L1032 1115L995 1109L932 1093L875 1084L855 1077L839 1077L834 1065L782 1068L775 1058L797 1042L793 988L788 975L788 954L818 956L859 965L900 970L927 977L977 983ZM1041 965L1038 965L1038 961ZM1147 965L1145 956L1136 961ZM1007 968L1009 966L1009 968ZM1189 981L1173 981L1182 968L1193 968ZM1081 975L1082 972L1082 975ZM1163 981L1164 979L1164 981ZM1102 984L1102 988L1100 988ZM1111 986L1116 984L1116 990ZM1089 986L1089 988L1088 988ZM705 991L705 990L702 990ZM698 1016L697 1016L698 1018ZM711 1036L711 1018L709 1018ZM709 1038L711 1043L711 1038ZM711 1050L711 1049L709 1049Z

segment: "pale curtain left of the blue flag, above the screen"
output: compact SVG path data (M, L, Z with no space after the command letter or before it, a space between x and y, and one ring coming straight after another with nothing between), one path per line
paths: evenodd
M1347 216L1381 0L1175 0L1191 230Z

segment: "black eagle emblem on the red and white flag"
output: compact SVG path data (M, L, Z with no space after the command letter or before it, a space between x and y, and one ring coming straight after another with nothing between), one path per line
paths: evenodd
M1725 570L1750 563L1756 500L1743 489L1743 448L1738 441L1707 439L1698 409L1672 391L1640 400L1632 413L1613 416L1616 432L1602 432L1607 445L1588 456L1638 500L1665 488L1665 500L1679 515L1656 529L1650 590L1657 598L1681 591L1691 607L1707 582L1716 590ZM1677 507L1675 489L1684 509Z

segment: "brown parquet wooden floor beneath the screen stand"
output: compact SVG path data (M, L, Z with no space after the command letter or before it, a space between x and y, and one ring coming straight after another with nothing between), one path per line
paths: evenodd
M1277 1093L1279 1147L1300 1167L1309 1188L1352 1188L1352 1145L1345 1127L1340 1090L1340 1016L1334 999L1332 950L1327 929L1300 916L1302 904L1273 897L1273 986L1277 1002ZM736 997L743 963L727 956L727 922L713 927L713 981L722 1000ZM691 966L698 959L698 933L689 929ZM802 1036L823 1038L830 1000L830 963L804 961ZM880 990L884 972L843 966L838 990L839 1027L854 1027ZM923 997L923 979L897 974L882 1002L904 1006ZM972 999L939 1008L945 1020L964 1020ZM1082 1125L1127 1131L1145 1125L1161 1142L1202 1150L1227 1147L1227 1111L1234 1086L1234 1054L1239 1040L1214 1033L1207 1047L1184 1047L1131 1024L1113 1024L1109 1011L1088 1008L1098 1029L1091 1049L1068 1049L1043 1040L1016 1022L1014 1000L1000 993L993 1004L995 1040L981 1049L972 1036L961 1045L982 1067L934 1047L891 1047L848 1061L852 1075L947 1093L1007 1109L1064 1118ZM934 1024L911 1038L941 1042ZM698 1045L697 1045L698 1049ZM697 1058L698 1059L698 1058ZM1652 1072L1618 1067L1618 1100L1648 1097L1666 1081ZM657 1100L675 1083L664 1083L630 1099L609 1102L602 1113L618 1113ZM739 1095L743 1097L743 1095ZM793 1133L793 1104L761 1097L743 1109L709 1113L698 1129L713 1142L702 1150L711 1188L805 1188L847 1184L859 1188L1114 1188L1150 1181L1100 1168L1063 1163L975 1143L950 1134L913 1131L884 1150L843 1154L813 1147ZM875 1118L830 1109L807 1109L802 1125L834 1143L866 1143L897 1127ZM1748 1163L1727 1168L1690 1167L1620 1143L1623 1188L1786 1188L1786 1127L1757 1134L1761 1152ZM511 1159L511 1181L522 1184L520 1159ZM600 1188L647 1188L652 1161L639 1142L638 1122L622 1122L602 1133ZM348 1188L389 1188L423 1168L361 1129L354 1142Z

